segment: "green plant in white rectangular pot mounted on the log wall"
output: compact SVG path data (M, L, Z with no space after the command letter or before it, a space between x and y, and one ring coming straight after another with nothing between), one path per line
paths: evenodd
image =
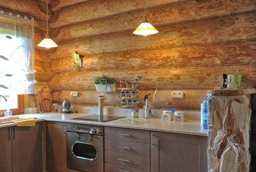
M116 91L116 81L107 75L93 77L93 83L95 84L98 92L114 92Z

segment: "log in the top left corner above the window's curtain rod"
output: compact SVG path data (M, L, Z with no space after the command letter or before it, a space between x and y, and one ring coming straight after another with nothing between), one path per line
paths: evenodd
M40 19L46 19L46 14L39 10L35 0L1 0L0 7L11 9L28 15L33 15Z

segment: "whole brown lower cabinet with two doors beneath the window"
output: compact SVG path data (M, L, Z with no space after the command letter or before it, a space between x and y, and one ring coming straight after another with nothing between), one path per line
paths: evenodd
M0 171L42 171L42 122L2 128L0 137Z

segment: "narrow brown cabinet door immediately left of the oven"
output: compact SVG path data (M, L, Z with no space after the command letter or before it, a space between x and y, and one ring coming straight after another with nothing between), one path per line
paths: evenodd
M46 149L47 171L67 172L66 123L47 122Z

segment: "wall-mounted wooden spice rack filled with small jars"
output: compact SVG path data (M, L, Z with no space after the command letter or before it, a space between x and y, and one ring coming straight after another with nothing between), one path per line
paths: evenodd
M119 99L121 99L121 103L119 105L119 107L122 107L122 108L136 108L138 105L139 105L139 80L141 80L141 76L122 76L122 77L119 77L119 79L133 79L135 80L135 83L136 84L136 88L126 88L126 84L124 84L124 88L117 88L117 90L120 91L120 96L118 96ZM120 84L121 85L121 84ZM122 92L129 92L130 93L130 96L125 96L126 93L124 93L124 95L121 96L121 93ZM135 92L135 95L134 96L131 96L132 92ZM125 104L122 103L122 100L125 100ZM127 102L130 100L131 102L131 105L127 105ZM136 105L133 105L133 102L136 100Z

